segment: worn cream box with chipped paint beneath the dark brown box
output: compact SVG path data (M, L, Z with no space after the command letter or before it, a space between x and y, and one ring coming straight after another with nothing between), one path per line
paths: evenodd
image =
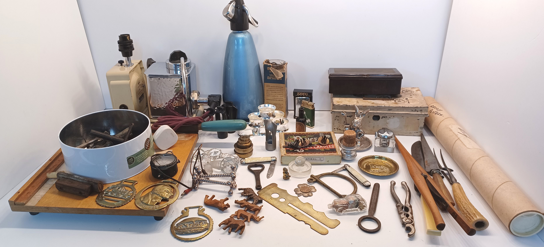
M421 90L417 87L401 88L400 98L394 100L363 100L351 94L332 94L332 131L344 133L344 116L348 123L355 115L357 105L361 111L370 109L362 119L362 129L366 134L374 134L381 128L388 128L395 135L420 135L428 114L428 106Z

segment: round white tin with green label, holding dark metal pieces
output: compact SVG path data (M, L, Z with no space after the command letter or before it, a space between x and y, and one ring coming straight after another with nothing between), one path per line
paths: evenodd
M91 129L121 132L134 123L131 140L103 148L77 148L91 138ZM135 135L135 136L134 136ZM83 177L94 178L104 184L131 178L150 166L153 148L150 120L146 115L126 110L110 109L80 116L70 121L59 132L60 148L66 170Z

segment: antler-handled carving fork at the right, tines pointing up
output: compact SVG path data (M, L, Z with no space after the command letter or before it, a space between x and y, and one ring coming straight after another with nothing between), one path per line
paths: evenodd
M436 155L435 155L436 156ZM446 167L446 171L448 171L448 175L446 175L446 172L444 173L444 177L446 177L450 184L452 184L452 191L453 191L453 197L455 198L455 202L457 203L457 207L459 208L459 211L465 216L468 223L477 231L485 230L487 226L489 226L489 221L481 215L481 213L472 205L471 201L468 200L467 195L465 194L465 190L463 190L463 187L457 179L452 174L452 170L448 168L446 165L446 162L444 162L444 157L442 156L442 150L440 150L440 158L442 159L442 164L444 167Z

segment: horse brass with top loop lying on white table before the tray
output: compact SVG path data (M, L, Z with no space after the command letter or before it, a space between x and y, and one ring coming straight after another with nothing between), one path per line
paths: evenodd
M206 217L208 220L199 217L192 217L179 221L180 219L189 216L189 209L198 209L199 216ZM184 210L182 210L180 217L177 217L170 225L170 232L172 233L172 236L186 242L196 241L206 237L213 230L213 219L212 217L209 217L208 214L204 213L204 210L205 209L202 206L186 207ZM184 238L179 236L203 231L206 232L203 235L194 238Z

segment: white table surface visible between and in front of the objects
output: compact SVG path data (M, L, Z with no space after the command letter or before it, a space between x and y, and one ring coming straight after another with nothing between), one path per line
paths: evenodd
M330 131L331 116L328 111L320 111L316 114L317 124L311 131ZM292 112L289 118L292 120ZM294 131L294 121L290 121L290 131ZM434 138L432 133L425 129L425 137L429 145L440 149L442 146ZM337 137L340 135L337 134ZM373 134L367 137L373 139ZM200 132L200 139L197 145L203 144L203 149L220 148L223 152L233 152L233 144L237 140L237 134L229 134L227 139L218 139L215 132ZM419 137L398 137L403 145L410 150L413 142L418 141ZM264 148L264 137L252 137L254 143L254 153L252 157L276 156L280 158L280 148L275 151L266 151ZM327 204L336 199L335 195L326 190L323 186L314 183L317 192L312 197L300 197L301 201L313 205L317 211L325 212L326 216L332 219L340 220L340 224L335 229L328 229L329 234L320 235L310 229L309 225L299 222L288 214L284 214L263 202L263 209L258 214L264 216L261 222L246 223L243 235L238 233L228 234L227 231L218 227L218 224L228 218L232 213L239 209L234 200L243 199L240 191L236 190L233 196L229 197L227 203L231 207L225 212L221 212L214 207L206 208L214 221L213 231L200 240L192 243L183 243L170 233L170 224L172 220L180 216L181 210L187 206L203 205L203 198L206 194L211 196L215 194L216 199L227 196L227 187L213 184L201 184L199 190L189 193L178 199L171 205L170 210L163 220L156 221L153 217L140 216L104 216L91 214L60 214L60 213L40 213L31 216L27 212L11 212L8 199L30 178L29 175L24 181L21 181L13 190L0 199L0 245L1 246L544 246L544 242L534 235L531 237L516 237L512 235L503 225L498 217L490 209L489 205L480 196L474 186L468 181L459 167L453 162L446 152L444 159L450 168L455 170L454 175L461 183L467 197L472 204L489 220L490 226L484 231L478 231L474 236L468 236L448 214L442 213L446 222L446 229L442 231L442 236L425 235L423 212L421 202L413 190L413 183L410 174L407 171L406 164L402 155L395 149L395 153L374 152L373 149L364 152L358 152L357 158L351 162L342 161L342 164L349 164L366 177L373 185L380 184L380 196L378 208L375 217L381 221L381 230L377 233L366 233L358 229L357 219L367 214L367 211L353 214L338 214L333 210L327 209ZM400 166L399 171L388 177L376 177L362 172L357 166L357 160L366 155L379 154L385 155L397 161ZM261 183L264 186L270 183L276 183L280 188L287 190L290 194L296 185L307 183L306 178L294 178L289 180L282 179L282 166L276 165L273 177L266 178L268 164L265 164L265 170L261 173ZM314 165L312 174L332 172L340 165ZM37 170L37 169L36 169ZM34 172L33 172L34 173ZM346 171L341 172L348 175ZM326 177L323 179L341 193L349 193L353 188L347 181ZM395 191L401 201L404 201L405 192L400 186L401 181L406 181L412 191L411 204L413 205L413 214L416 226L416 235L408 238L404 227L400 224L395 203L390 193L390 181L397 181ZM190 184L189 172L183 177L184 183ZM246 166L240 165L237 171L236 183L239 188L255 188L255 177L250 173ZM369 203L372 187L366 188L357 183L357 193L361 194ZM449 184L448 188L451 188ZM132 203L132 202L131 202ZM196 216L196 209L190 210L190 217ZM372 227L372 225L368 225Z

